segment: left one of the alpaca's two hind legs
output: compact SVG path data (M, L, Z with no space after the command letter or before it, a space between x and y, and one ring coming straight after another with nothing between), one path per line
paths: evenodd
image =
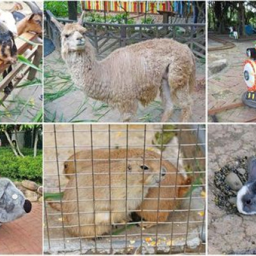
M164 104L164 113L161 118L161 122L168 122L173 113L173 104L170 92L170 86L168 81L164 78L161 86L160 96Z

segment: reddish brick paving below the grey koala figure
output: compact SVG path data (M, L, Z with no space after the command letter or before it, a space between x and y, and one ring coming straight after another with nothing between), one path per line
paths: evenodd
M0 254L42 254L42 204L0 227Z

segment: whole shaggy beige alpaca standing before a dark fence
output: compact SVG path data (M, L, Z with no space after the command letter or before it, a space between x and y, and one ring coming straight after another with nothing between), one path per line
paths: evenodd
M95 100L120 111L123 121L136 115L138 103L146 106L160 91L168 122L173 103L183 109L182 121L191 115L191 91L196 87L195 56L188 45L172 39L147 40L116 49L104 60L96 60L95 50L85 36L83 15L78 23L63 26L61 56L76 86Z

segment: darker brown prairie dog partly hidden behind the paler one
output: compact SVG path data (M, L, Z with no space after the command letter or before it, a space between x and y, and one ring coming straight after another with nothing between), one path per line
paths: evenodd
M110 150L110 159L125 159L143 157L143 149L139 148L126 148ZM108 159L109 150L108 149L97 149L93 150L93 159ZM160 159L161 156L153 151L146 150L145 158L150 159ZM76 170L77 173L83 172L86 166L90 166L92 162L92 151L83 150L76 153ZM64 164L64 172L67 174L67 178L75 173L74 155L70 156L69 159ZM184 173L178 173L177 168L173 166L170 161L163 159L162 166L166 169L166 175L160 183L160 193L159 188L150 188L148 190L147 196L143 200L142 204L138 207L137 214L143 218L145 221L155 222L155 223L143 223L143 227L152 227L158 222L167 221L170 212L179 206L180 200L175 200L175 198L183 197L189 189L190 179ZM159 164L160 167L160 164ZM175 185L176 184L176 185ZM163 187L166 186L166 187ZM183 186L183 187L182 187ZM147 198L156 198L156 200L147 200ZM169 200L159 200L159 212L157 214L158 198L166 198ZM143 211L141 211L143 210ZM145 210L156 210L156 211L145 211ZM164 212L162 212L165 210ZM166 211L167 210L167 211Z

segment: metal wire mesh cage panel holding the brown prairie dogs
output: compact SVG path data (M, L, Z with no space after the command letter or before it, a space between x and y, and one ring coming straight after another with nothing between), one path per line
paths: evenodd
M44 145L45 253L205 253L203 125L45 125Z

